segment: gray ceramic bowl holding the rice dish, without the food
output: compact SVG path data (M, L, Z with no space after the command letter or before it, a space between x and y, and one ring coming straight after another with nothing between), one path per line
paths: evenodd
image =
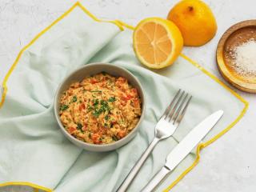
M74 138L65 130L59 118L59 99L63 91L67 90L71 83L81 81L82 79L89 77L90 75L98 74L98 73L101 73L102 71L105 71L107 74L111 74L113 76L122 76L128 80L130 85L137 88L138 94L142 100L142 116L137 126L134 127L134 130L132 130L129 134L127 134L126 137L118 140L117 142L113 142L110 144L96 145L96 144L82 142L77 138ZM144 113L145 113L145 98L144 98L142 86L140 82L138 82L138 79L135 78L134 75L131 74L128 70L120 66L107 64L107 63L91 63L86 66L82 66L81 68L78 68L78 70L74 70L74 72L72 72L67 78L65 78L61 83L61 85L58 87L58 90L56 92L55 99L54 99L55 118L57 119L58 126L61 128L63 134L66 136L66 138L70 140L70 142L73 142L76 146L80 146L85 150L91 150L91 151L115 150L118 147L125 145L127 142L130 142L130 140L134 138L135 134L137 134L138 132L138 126L142 122Z

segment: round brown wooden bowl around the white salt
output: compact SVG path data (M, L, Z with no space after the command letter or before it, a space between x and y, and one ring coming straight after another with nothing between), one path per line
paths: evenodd
M234 47L254 38L256 41L256 20L238 22L222 35L218 42L216 59L218 70L231 85L249 93L256 93L256 73L241 74L234 70ZM256 54L256 53L255 53Z

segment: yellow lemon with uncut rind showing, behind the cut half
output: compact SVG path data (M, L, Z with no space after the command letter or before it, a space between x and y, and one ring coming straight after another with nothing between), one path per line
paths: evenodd
M206 3L200 0L182 0L169 12L167 19L182 32L185 46L202 46L214 38L217 23Z

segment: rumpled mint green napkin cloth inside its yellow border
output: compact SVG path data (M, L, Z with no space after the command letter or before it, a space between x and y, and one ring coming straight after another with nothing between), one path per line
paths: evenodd
M139 191L165 163L166 155L194 126L215 110L225 114L204 141L226 129L245 104L180 57L157 71L141 66L132 48L132 30L95 22L81 7L42 34L22 54L7 83L0 110L0 183L31 182L56 192L118 188L154 137L154 126L178 88L194 96L174 136L155 147L129 191ZM78 66L110 62L130 70L146 93L146 115L137 136L108 153L82 150L70 143L54 119L54 94L62 79ZM195 151L195 150L194 150ZM158 187L166 189L195 160L194 151Z

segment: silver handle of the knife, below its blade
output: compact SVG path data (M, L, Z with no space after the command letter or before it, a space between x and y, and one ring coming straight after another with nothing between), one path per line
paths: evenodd
M169 170L166 166L163 166L161 170L158 171L157 174L154 175L153 178L150 179L150 182L144 186L144 188L141 190L141 192L151 192L154 190L156 186L162 181L163 178L166 177L167 174L170 173L171 170Z

